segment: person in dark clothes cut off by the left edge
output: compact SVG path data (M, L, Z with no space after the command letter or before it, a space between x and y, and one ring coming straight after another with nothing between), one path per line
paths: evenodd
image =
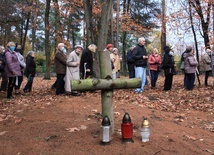
M8 78L5 72L6 59L5 59L4 46L0 46L0 65L1 65L0 74L2 78L0 91L6 91Z

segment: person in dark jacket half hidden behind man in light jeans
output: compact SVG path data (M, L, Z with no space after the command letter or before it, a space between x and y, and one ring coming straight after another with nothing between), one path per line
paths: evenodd
M134 50L135 46L132 46L126 55L126 61L128 65L128 71L129 71L129 78L135 78L135 60L132 57L132 52Z

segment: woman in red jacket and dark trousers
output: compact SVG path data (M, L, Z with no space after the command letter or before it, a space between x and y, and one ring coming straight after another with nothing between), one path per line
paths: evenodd
M158 66L161 64L161 57L158 54L157 48L153 49L152 54L149 56L148 63L151 76L151 88L155 89L159 74Z

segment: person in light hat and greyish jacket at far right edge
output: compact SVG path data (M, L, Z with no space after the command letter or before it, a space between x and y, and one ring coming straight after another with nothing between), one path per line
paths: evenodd
M212 75L212 61L211 61L211 50L207 49L206 52L202 55L201 62L204 65L205 71L205 80L204 85L208 86L208 77Z

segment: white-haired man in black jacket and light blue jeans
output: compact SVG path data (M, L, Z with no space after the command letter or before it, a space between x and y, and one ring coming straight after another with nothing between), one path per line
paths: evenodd
M135 92L142 93L144 90L144 85L146 83L146 67L148 54L146 52L145 38L140 37L138 39L138 44L133 50L132 57L135 60L135 77L141 78L141 88L137 88Z

